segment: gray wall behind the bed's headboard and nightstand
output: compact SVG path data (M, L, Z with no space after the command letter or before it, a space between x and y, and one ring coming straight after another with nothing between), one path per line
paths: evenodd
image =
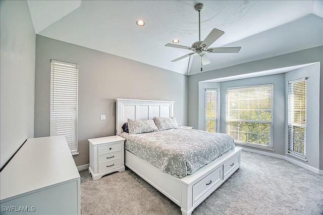
M51 59L79 64L77 166L89 163L87 139L115 135L116 98L175 101L178 124L187 124L186 75L37 35L35 137L49 136Z

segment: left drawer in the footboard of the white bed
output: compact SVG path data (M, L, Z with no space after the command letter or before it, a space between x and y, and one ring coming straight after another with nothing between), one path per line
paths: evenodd
M208 196L208 192L219 185L222 181L222 166L214 170L205 178L193 185L193 202L192 206L196 204L205 195Z

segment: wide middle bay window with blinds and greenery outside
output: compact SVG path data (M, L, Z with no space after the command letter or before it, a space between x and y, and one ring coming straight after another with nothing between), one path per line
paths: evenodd
M273 149L274 84L227 89L227 134L236 143Z

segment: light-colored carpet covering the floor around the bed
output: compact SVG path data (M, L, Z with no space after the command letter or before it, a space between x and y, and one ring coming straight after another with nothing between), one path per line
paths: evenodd
M181 214L131 170L93 181L81 171L82 214ZM323 176L286 160L242 152L240 169L192 214L322 214Z

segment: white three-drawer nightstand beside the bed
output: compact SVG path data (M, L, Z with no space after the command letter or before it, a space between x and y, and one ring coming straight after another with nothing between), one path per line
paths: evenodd
M89 172L93 180L125 170L125 139L120 136L88 139L90 147Z

